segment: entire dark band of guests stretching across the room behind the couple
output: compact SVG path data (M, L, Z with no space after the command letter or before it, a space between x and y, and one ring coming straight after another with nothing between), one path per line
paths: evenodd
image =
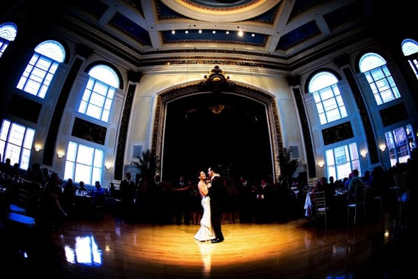
M414 149L414 153L417 153ZM415 156L417 157L417 156ZM414 157L412 157L414 158ZM324 190L327 206L332 209L341 206L337 201L336 190L346 193L346 202L353 202L353 185L362 183L368 189L371 197L381 196L383 204L391 206L394 203L393 186L402 186L411 197L412 174L417 169L416 160L408 163L398 163L385 170L375 167L366 170L359 176L357 169L344 179L318 179L311 191ZM157 223L157 224L187 224L200 225L202 216L201 196L197 188L196 178L180 175L175 183L162 181L160 175L155 175L151 181L139 177L133 181L131 174L125 174L120 188L114 183L108 188L102 188L100 181L95 182L93 190L87 190L83 181L78 186L72 179L65 182L56 173L49 173L46 168L40 168L34 163L25 174L15 172L10 160L1 165L1 172L10 177L21 177L38 183L42 188L40 195L40 216L45 223L56 223L74 213L75 197L88 196L90 204L102 203L104 197L116 197L121 200L118 214L127 222ZM307 181L299 177L287 182L279 176L274 183L270 177L249 180L245 176L235 179L223 176L224 202L222 223L272 223L304 216L304 199L307 193Z

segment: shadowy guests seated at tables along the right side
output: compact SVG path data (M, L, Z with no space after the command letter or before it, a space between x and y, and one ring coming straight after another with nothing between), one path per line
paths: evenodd
M311 189L311 193L325 191L328 212L334 221L343 220L346 206L360 198L364 201L368 218L378 216L382 211L399 214L399 206L403 203L405 208L402 210L406 214L399 222L412 224L410 204L415 199L417 152L418 149L413 149L412 158L408 162L396 163L389 169L374 167L371 171L366 170L363 175L359 174L358 169L353 169L348 177L335 181L333 176L329 179L322 177Z

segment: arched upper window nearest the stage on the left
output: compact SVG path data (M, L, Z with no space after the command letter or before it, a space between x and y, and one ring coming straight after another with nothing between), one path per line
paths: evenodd
M108 66L99 65L92 68L88 75L79 112L95 119L107 122L119 79L115 71Z

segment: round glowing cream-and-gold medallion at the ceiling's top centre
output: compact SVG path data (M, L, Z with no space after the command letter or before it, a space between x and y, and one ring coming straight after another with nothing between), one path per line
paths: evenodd
M240 22L261 15L281 0L161 0L172 10L194 20Z

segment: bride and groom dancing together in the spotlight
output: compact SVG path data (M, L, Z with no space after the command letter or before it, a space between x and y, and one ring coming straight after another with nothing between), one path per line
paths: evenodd
M201 227L194 235L194 239L202 242L219 243L224 241L224 234L222 234L221 228L223 185L221 176L212 167L208 169L208 176L210 181L206 183L205 172L199 172L199 183L197 186L202 197L203 215Z

